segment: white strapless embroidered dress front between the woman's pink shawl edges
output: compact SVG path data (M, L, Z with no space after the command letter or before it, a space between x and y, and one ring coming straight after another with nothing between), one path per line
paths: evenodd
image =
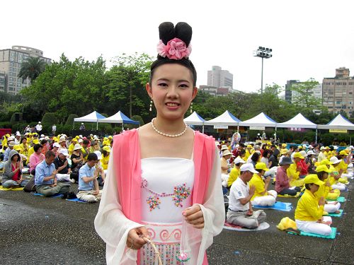
M183 158L142 159L142 223L164 265L176 260L183 231L182 212L192 206L194 163ZM151 245L140 252L142 265L157 264Z

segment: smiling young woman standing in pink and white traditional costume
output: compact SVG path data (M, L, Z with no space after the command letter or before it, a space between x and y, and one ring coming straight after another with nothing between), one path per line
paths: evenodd
M192 28L162 23L159 33L146 86L156 118L114 137L95 219L107 264L157 264L154 247L162 264L207 264L205 250L224 224L215 140L183 122L197 94Z

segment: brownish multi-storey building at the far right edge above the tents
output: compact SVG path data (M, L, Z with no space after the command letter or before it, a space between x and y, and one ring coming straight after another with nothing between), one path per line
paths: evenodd
M322 104L329 112L345 111L348 116L354 107L354 77L346 67L336 69L336 76L324 78L322 82Z

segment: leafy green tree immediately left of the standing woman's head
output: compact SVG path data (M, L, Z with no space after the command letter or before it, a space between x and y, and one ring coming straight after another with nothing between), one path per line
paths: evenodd
M107 73L108 84L105 86L105 91L108 101L118 103L120 109L124 110L127 110L125 107L127 105L130 117L133 114L149 116L147 112L149 97L144 87L149 81L152 61L152 57L147 54L122 54L115 57L113 60L115 66Z

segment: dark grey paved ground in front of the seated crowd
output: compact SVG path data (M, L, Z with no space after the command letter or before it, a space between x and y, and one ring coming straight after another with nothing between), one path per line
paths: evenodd
M349 192L345 214L333 218L335 240L288 235L275 228L294 210L266 210L268 230L223 230L208 249L210 265L221 264L354 264L354 206ZM292 202L297 199L280 198ZM98 204L42 198L0 191L0 264L105 264L105 246L93 228ZM190 264L193 265L193 264Z

